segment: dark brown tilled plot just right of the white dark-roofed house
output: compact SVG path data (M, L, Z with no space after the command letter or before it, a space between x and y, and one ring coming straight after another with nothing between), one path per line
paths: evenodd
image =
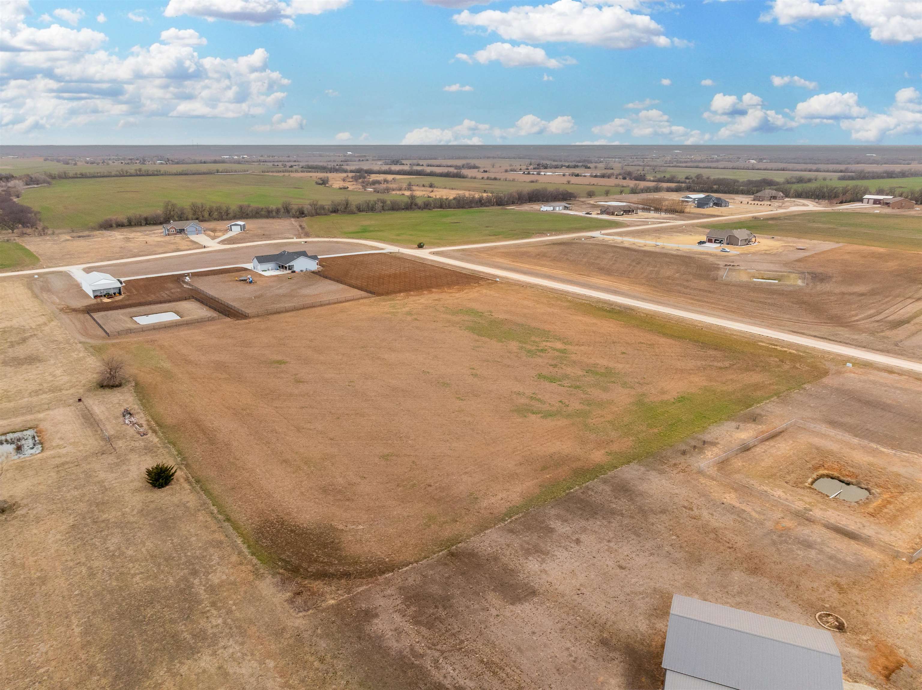
M322 275L372 295L462 287L486 282L478 275L406 259L397 254L356 254L323 259Z

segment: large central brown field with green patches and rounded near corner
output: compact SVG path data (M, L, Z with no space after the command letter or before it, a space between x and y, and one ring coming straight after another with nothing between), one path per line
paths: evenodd
M320 582L429 556L826 371L498 284L109 351L254 555Z

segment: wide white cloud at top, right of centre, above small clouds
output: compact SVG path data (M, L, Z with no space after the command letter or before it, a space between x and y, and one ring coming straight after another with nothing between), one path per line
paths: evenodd
M663 35L663 28L649 15L631 12L642 7L637 0L558 0L550 5L514 6L508 10L465 10L454 20L463 27L495 31L507 41L584 43L616 49L672 45L673 41Z

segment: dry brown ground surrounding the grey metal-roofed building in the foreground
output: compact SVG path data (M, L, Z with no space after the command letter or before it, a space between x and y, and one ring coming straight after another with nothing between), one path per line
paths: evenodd
M792 417L896 450L922 446L922 381L843 371L326 607L310 634L378 690L653 690L680 593L803 626L839 614L846 681L916 690L922 561L697 471Z

